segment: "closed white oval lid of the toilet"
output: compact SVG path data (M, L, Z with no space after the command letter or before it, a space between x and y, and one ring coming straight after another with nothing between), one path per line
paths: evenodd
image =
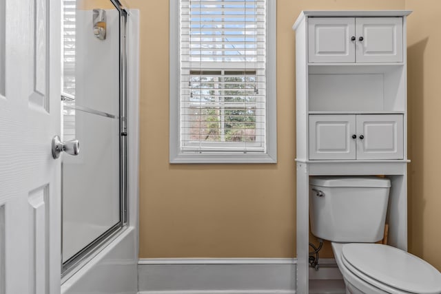
M360 273L387 286L410 293L441 293L441 273L424 260L395 247L345 244L342 257Z

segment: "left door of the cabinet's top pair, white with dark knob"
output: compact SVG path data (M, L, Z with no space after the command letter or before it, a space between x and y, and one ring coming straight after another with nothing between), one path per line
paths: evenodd
M308 34L309 62L356 61L353 17L311 17Z

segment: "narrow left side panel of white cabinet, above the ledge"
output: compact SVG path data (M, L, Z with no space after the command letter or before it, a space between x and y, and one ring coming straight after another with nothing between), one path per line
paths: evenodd
M306 21L296 30L296 158L307 159L307 35Z

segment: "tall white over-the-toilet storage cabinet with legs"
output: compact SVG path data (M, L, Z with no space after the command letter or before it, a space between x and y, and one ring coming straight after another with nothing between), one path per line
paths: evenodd
M407 250L409 14L304 11L294 23L298 293L308 293L310 176L389 178L389 244Z

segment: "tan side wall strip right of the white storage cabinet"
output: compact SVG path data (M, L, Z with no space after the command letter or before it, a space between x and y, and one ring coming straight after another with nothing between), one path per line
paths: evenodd
M441 1L406 0L409 251L441 271Z

